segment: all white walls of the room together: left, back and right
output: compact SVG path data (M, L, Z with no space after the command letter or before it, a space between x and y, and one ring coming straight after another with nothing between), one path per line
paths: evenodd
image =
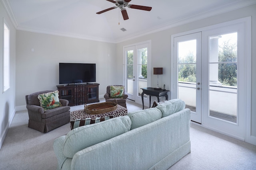
M25 106L25 95L32 92L56 89L58 84L58 63L96 63L96 82L100 83L99 94L106 92L109 84L122 84L123 46L151 40L151 66L164 68L159 77L159 86L166 84L170 90L171 75L171 35L193 29L214 25L238 18L252 16L252 65L256 64L256 5L248 6L186 25L173 27L158 33L152 33L134 38L118 44L102 43L60 37L26 31L16 31L11 27L11 88L4 94L0 93L0 140L3 142L8 120L12 120L14 107ZM10 22L2 4L0 4L0 51L2 51L2 17ZM9 23L11 25L11 23ZM12 26L12 25L11 25ZM16 36L16 43L15 43ZM16 44L16 61L15 61ZM34 52L31 52L34 48ZM2 53L0 53L2 62ZM15 63L17 63L15 65ZM15 73L16 68L16 73ZM0 64L2 76L2 63ZM15 80L16 78L16 80ZM16 82L15 82L16 81ZM151 84L155 84L157 77L153 75ZM16 90L14 89L16 85ZM256 67L252 66L252 137L256 139ZM0 79L2 90L2 78ZM16 92L16 93L15 93ZM170 92L168 94L170 96Z

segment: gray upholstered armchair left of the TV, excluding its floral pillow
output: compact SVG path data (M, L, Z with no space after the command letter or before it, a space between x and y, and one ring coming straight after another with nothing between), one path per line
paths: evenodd
M38 130L42 133L56 129L70 121L70 106L68 100L59 99L61 107L45 110L40 106L37 98L39 94L54 92L53 90L45 90L41 92L26 95L26 107L28 109L28 127Z

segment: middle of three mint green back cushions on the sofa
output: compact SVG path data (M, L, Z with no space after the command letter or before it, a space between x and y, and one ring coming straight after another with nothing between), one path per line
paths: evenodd
M144 126L148 123L156 121L162 118L162 112L156 108L150 108L140 111L134 111L128 113L128 116L132 120L131 130L137 127Z

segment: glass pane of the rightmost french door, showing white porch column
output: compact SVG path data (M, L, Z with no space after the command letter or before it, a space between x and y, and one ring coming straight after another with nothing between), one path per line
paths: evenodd
M237 33L209 39L209 116L237 122Z

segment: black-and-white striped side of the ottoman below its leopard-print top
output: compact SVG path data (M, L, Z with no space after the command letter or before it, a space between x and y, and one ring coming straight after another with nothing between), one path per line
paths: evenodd
M72 120L70 121L70 128L75 129L77 127L80 126L84 126L84 125L91 125L94 123L99 123L108 119L114 118L113 115L110 116L106 116L106 117L94 117L94 118L86 118L86 119L76 119L76 120Z

